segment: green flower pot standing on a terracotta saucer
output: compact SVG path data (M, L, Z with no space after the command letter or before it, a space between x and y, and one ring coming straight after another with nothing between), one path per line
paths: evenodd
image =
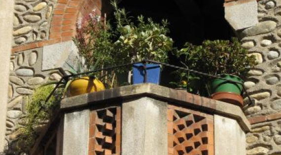
M222 75L221 77L229 80L234 80L237 82L243 83L244 81L240 77L232 76L232 75ZM235 93L238 95L241 95L243 91L242 84L234 83L234 82L228 82L223 79L215 78L211 82L211 93L216 92L230 92Z

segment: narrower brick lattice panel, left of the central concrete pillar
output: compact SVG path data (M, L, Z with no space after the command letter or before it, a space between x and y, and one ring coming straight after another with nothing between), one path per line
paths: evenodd
M121 109L91 111L89 155L120 155Z

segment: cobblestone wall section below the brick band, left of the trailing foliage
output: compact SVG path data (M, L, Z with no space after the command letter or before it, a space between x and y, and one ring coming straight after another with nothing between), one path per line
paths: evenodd
M13 54L10 60L10 77L6 118L7 150L13 152L16 146L17 129L25 117L25 99L34 89L47 80L59 80L61 74L56 70L41 71L42 48ZM17 155L17 154L16 154Z

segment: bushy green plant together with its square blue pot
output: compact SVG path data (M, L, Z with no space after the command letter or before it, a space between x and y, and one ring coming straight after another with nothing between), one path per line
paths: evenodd
M132 22L133 18L128 17L125 9L118 8L116 1L111 4L115 10L116 31L119 36L114 43L117 63L140 62L143 59L167 62L168 52L171 51L173 45L173 40L167 37L169 33L167 21L163 20L162 24L158 24L151 18L144 20L144 17L140 15L136 22ZM133 84L143 83L144 75L147 75L146 82L159 84L160 65L135 64Z

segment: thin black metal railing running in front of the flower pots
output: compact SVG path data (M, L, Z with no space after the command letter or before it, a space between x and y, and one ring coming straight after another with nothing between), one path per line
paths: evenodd
M80 75L86 75L86 74L96 73L96 72L100 72L100 71L108 71L108 70L112 70L112 69L116 69L116 68L133 66L134 64L138 64L138 63L143 63L143 64L144 64L144 66L143 66L143 70L144 70L144 82L146 82L146 79L147 79L147 72L146 72L146 66L145 66L145 64L147 64L147 63L159 64L159 65L163 65L163 66L166 66L166 67L170 67L170 68L174 68L174 69L183 70L183 71L191 72L191 73L194 73L194 74L202 75L202 76L204 76L204 77L219 78L219 79L223 79L223 80L228 81L228 82L233 82L233 83L241 84L242 87L243 87L243 90L244 90L244 92L245 92L246 97L249 99L248 106L254 106L254 105L255 105L254 100L252 100L252 99L250 98L250 96L248 95L248 92L246 91L246 88L245 88L245 85L244 85L243 82L234 81L234 80L231 80L231 79L226 79L226 78L219 77L219 76L213 76L213 75L209 75L209 74L206 74L206 73L202 73L202 72L198 72L198 71L195 71L195 70L191 70L191 69L188 69L188 68L179 67L179 66L174 66L174 65L170 65L170 64L166 64L166 63L161 63L161 62L157 62L157 61L152 61L152 60L142 60L142 61L140 61L140 62L128 63L128 64L117 65L117 66L112 66L112 67L106 67L106 68L97 69L97 70L93 70L93 71L89 71L89 72L84 72L84 73L78 73L78 74L73 74L73 75L64 75L64 76L60 79L60 81L56 84L56 86L54 87L54 89L52 90L52 92L49 94L49 96L47 97L47 99L45 100L45 102L48 102L48 100L49 100L50 97L53 95L53 93L56 91L56 89L59 87L59 85L60 85L61 83L64 83L64 82L68 81L68 79L69 79L70 77L77 77L77 76L80 76Z

